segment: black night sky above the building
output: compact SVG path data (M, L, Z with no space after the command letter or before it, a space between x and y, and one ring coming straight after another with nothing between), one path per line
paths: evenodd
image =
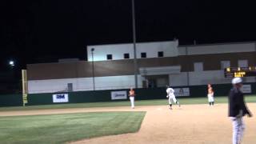
M135 0L138 42L255 41L255 2ZM132 42L130 0L0 1L1 70L26 63L86 59L86 45Z

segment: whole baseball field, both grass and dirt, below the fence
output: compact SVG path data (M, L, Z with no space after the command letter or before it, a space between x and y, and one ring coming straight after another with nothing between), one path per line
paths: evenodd
M94 102L0 108L1 143L231 143L227 98ZM246 96L254 114L256 96ZM244 118L243 143L256 143L256 118Z

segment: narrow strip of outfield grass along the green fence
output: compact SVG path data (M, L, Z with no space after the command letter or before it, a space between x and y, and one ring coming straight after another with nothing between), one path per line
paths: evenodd
M182 105L186 104L205 104L207 98L178 98ZM226 103L227 97L216 97L215 103ZM256 95L246 96L246 102L256 102ZM158 106L166 105L167 99L158 100L142 100L135 101L135 106ZM130 106L130 101L122 102L88 102L88 103L74 103L74 104L55 104L55 105L41 105L41 106L14 106L1 107L0 111L8 110L45 110L45 109L66 109L66 108L89 108L89 107L113 107L113 106Z

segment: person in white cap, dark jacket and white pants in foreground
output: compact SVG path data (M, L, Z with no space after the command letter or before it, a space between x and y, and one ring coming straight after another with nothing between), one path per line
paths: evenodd
M240 144L242 142L243 131L245 130L242 117L246 114L252 117L252 114L244 102L244 96L241 91L242 78L233 78L232 84L233 88L229 94L229 117L233 125L233 144Z

